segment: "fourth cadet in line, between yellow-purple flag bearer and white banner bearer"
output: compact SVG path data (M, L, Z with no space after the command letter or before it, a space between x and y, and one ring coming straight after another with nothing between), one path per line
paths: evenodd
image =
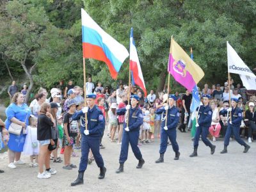
M202 136L202 141L204 144L211 148L211 154L215 152L215 145L207 139L209 134L209 127L211 126L212 122L212 109L209 106L209 102L211 99L210 95L202 95L204 99L204 106L200 106L199 115L198 115L198 124L196 125L196 134L194 139L194 152L189 157L196 157L197 156L197 148L198 148L198 141L200 135Z

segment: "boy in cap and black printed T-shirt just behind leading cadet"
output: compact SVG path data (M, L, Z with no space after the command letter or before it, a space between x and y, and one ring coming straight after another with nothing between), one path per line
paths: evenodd
M73 145L76 142L77 132L79 132L78 123L76 120L72 120L72 115L76 112L76 102L74 100L70 100L68 103L68 112L64 116L63 124L64 124L64 165L63 169L72 170L72 168L76 168L77 166L70 163L71 154L73 150Z

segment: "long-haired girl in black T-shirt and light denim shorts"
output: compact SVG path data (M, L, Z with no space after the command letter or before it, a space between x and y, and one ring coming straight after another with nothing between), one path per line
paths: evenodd
M40 115L38 116L37 122L37 140L40 143L38 156L39 173L37 175L39 179L47 179L51 175L56 174L56 170L50 168L50 159L46 158L49 154L49 144L55 145L51 139L52 126L54 126L54 118L51 115L51 105L44 102L40 108Z

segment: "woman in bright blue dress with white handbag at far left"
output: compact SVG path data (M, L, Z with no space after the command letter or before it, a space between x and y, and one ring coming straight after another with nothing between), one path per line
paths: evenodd
M7 119L5 121L5 127L8 130L10 124L22 125L22 129L26 129L30 116L30 109L27 104L24 104L24 95L22 93L15 93L12 98L12 104L6 108ZM24 164L20 160L20 154L23 150L26 134L20 132L20 135L10 133L10 139L8 141L8 157L9 168L16 168L15 164Z

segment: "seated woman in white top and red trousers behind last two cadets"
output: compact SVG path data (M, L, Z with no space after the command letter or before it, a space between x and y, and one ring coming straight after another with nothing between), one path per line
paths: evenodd
M221 125L219 123L220 114L219 114L219 109L217 108L214 101L211 102L211 108L212 108L212 123L211 123L211 127L209 127L209 132L212 135L212 141L216 141L216 138L220 136L220 129L221 129Z

